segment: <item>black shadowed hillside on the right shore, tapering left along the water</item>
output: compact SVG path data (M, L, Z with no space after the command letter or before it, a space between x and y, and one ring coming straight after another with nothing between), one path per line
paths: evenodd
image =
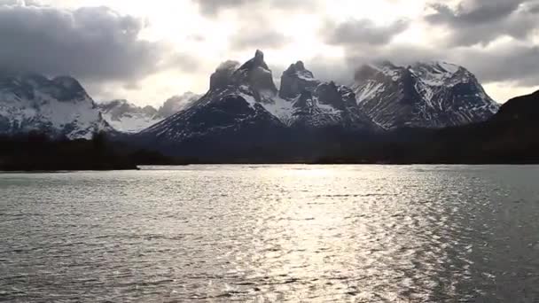
M490 119L450 128L401 128L365 149L328 153L335 163L530 164L539 163L539 91L514 97ZM323 157L324 158L324 157Z

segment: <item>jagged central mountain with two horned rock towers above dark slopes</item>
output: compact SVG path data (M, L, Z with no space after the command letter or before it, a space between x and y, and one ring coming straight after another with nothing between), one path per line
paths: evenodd
M278 141L275 136L290 132L286 129L379 129L361 113L351 89L316 81L301 62L290 66L282 79L279 93L262 51L241 66L224 62L212 74L206 95L141 136L159 144L254 144Z

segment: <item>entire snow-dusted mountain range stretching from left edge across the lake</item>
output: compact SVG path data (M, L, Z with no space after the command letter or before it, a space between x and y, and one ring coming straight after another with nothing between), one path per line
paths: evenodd
M465 67L441 61L360 66L348 86L316 79L297 61L280 78L277 88L256 51L243 64L218 66L206 94L171 97L154 108L96 103L72 77L4 76L0 134L39 130L75 139L105 131L174 156L315 159L350 142L376 145L403 129L493 120L500 108Z

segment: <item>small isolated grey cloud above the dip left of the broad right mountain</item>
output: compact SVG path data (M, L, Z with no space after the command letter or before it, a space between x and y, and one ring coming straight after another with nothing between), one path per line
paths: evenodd
M397 20L387 26L377 26L369 19L352 19L335 24L327 22L322 30L326 43L333 45L383 45L391 42L410 25L408 20Z

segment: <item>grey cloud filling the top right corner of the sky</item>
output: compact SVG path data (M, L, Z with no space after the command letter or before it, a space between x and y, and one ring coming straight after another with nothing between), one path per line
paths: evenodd
M488 44L504 35L526 40L539 27L537 1L472 0L457 8L432 4L426 21L449 29L449 44L470 46Z

